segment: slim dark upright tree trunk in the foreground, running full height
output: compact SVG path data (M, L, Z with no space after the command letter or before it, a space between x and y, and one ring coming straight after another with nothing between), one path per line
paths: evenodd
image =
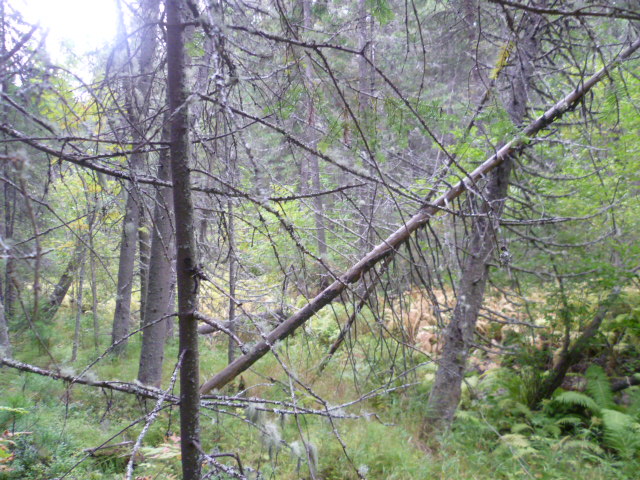
M176 225L178 280L178 335L180 355L180 447L184 480L198 480L201 472L198 323L195 309L200 266L194 237L194 213L189 170L189 118L187 103L184 26L186 4L166 0L167 67L171 112L171 174Z

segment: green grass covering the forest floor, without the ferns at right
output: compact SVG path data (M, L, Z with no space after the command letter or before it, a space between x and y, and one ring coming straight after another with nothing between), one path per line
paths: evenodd
M72 323L70 318L57 320L60 328L54 329L51 336L55 358L70 357ZM362 341L366 343L367 339ZM325 351L322 343L307 342L301 335L283 343L278 350L281 358L294 366L293 373L311 386L312 393L298 388L292 396L286 376L273 356L263 359L254 372L244 374L243 381L246 386L255 386L250 390L251 396L295 400L298 405L322 409L314 397L318 395L329 405L339 405L379 385L381 378L391 378L384 369L389 354L380 353L384 349L374 345L370 352L378 353L367 357L363 353L365 347L363 344L362 351L354 351L354 364L350 365L340 353L323 375L317 376L316 367ZM139 340L132 339L125 355L106 357L92 369L92 374L100 379L134 381L139 349ZM79 371L95 356L87 339L78 361L64 368ZM16 345L16 357L37 365L50 362L46 354L30 348L26 340ZM177 347L172 341L166 358L176 357ZM225 363L226 345L203 342L203 377ZM173 363L167 361L165 378L172 370ZM352 381L354 372L361 377L357 384ZM450 432L420 439L429 372L429 368L423 368L415 377L391 384L415 382L409 389L373 397L347 410L362 415L360 419L330 421L318 416L277 413L256 418L254 413L240 408L204 411L203 447L237 453L245 466L259 470L265 479L310 478L310 470L323 480L635 478L637 457L623 461L610 451L594 452L589 446L592 444L581 445L577 437L512 434L507 427L516 422L516 415L513 420L505 420L492 396L482 401L467 396L465 409ZM270 378L283 383L273 384ZM237 388L236 382L225 391L235 393ZM0 455L0 480L56 478L70 470L65 478L98 480L124 478L127 459L118 454L85 458L85 450L112 437L112 443L135 441L143 422L132 424L143 418L153 403L80 385L68 389L63 382L3 369L0 407L6 407L0 410L0 431L5 432L0 454L4 446L4 451L13 455L10 461L2 460ZM142 456L136 461L136 476L180 478L178 429L177 411L164 410L145 437ZM126 454L127 448L130 446L119 453ZM224 461L234 464L232 460Z

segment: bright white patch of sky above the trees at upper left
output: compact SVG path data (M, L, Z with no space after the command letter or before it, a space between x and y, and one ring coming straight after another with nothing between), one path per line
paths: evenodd
M82 55L112 40L116 32L115 1L17 0L16 5L26 20L49 31L47 48L54 56L61 44Z

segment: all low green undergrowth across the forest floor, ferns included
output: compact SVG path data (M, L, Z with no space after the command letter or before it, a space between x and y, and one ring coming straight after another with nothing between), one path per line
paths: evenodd
M51 339L56 358L64 358L67 333L60 331ZM322 330L321 338L325 334ZM47 364L47 355L23 348L17 345L18 358ZM382 378L392 379L387 383L391 391L344 412L360 415L358 419L329 421L240 408L204 411L203 448L237 453L248 478L256 479L311 478L312 472L323 480L637 478L640 390L627 389L621 402L600 367L585 372L584 391L559 391L538 410L527 405L540 381L533 369L513 366L471 373L452 429L422 438L433 364L409 358L416 370L394 378L383 368L388 358L382 354L367 363L349 364L338 353L318 376L324 351L324 345L310 346L301 338L279 347L287 363L296 365L295 374L332 405L358 398ZM105 357L91 375L133 381L138 352L133 340L123 357ZM95 355L88 345L75 364L61 367L78 372ZM176 355L176 345L170 343L166 358ZM203 376L225 362L224 344L203 345ZM166 378L172 368L167 362ZM304 391L292 396L286 383L273 383L270 379L279 369L275 359L265 358L253 373L245 374L243 382L253 386L248 395L296 401L317 410L328 406ZM353 376L362 380L354 383ZM238 383L222 393L236 393ZM153 408L153 402L125 394L80 385L68 388L63 382L9 369L0 375L0 392L0 480L122 479L132 442ZM180 478L178 423L176 409L162 411L135 459L136 477ZM110 447L95 450L103 444ZM221 461L236 465L230 458Z

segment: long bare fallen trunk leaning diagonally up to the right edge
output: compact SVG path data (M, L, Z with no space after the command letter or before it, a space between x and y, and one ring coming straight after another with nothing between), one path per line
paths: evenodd
M638 48L640 48L640 39L633 42L629 48L624 50L618 56L618 58L602 68L591 78L585 80L585 82L573 92L556 103L543 115L538 117L516 138L505 144L482 165L476 168L458 184L451 187L435 202L422 205L418 212L404 225L391 234L381 244L377 245L364 258L347 270L346 273L337 277L331 285L320 292L320 294L313 298L305 307L272 330L271 333L269 333L263 341L259 342L249 353L237 358L205 382L202 385L200 392L204 394L214 388L221 388L229 383L237 375L247 370L260 358L266 355L276 342L291 335L316 312L331 303L347 288L348 285L356 283L364 273L368 272L381 260L394 255L397 248L405 242L413 232L426 225L431 217L437 214L439 210L446 208L454 199L459 197L470 186L475 185L478 180L504 162L516 150L525 147L529 143L529 140L537 135L541 130L551 125L568 110L573 109L594 85L607 76L611 69L628 59L636 50L638 50Z

